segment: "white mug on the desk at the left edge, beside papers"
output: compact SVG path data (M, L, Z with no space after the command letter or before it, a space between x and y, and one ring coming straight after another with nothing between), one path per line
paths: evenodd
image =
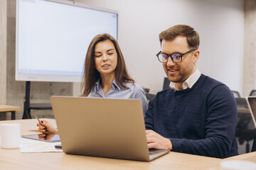
M21 124L7 123L0 124L1 148L18 148L21 141Z

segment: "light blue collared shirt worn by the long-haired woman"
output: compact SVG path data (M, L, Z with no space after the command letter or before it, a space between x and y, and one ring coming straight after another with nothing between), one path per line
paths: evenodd
M112 88L104 94L102 87L100 86L100 79L95 84L90 94L87 97L91 98L134 98L142 101L143 113L145 115L147 109L146 95L142 86L139 84L126 83L125 86L129 89L122 89L117 85L117 81L112 82Z

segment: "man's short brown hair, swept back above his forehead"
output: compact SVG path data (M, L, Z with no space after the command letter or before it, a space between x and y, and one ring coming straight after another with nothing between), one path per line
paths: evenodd
M184 36L187 39L188 47L198 49L199 47L199 35L194 28L186 25L176 25L167 30L164 30L159 34L160 43L163 40L174 40L177 36Z

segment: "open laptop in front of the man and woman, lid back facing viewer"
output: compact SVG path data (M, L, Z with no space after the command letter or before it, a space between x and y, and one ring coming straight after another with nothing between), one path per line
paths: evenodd
M149 162L169 150L148 149L137 99L51 96L63 152Z

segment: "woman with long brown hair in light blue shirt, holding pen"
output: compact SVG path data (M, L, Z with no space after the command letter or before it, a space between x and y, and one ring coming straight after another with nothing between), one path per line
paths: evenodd
M137 98L142 101L144 114L146 112L147 102L142 86L129 76L120 47L111 35L96 35L90 42L81 89L81 96L85 97ZM38 131L58 133L46 120L38 124Z

